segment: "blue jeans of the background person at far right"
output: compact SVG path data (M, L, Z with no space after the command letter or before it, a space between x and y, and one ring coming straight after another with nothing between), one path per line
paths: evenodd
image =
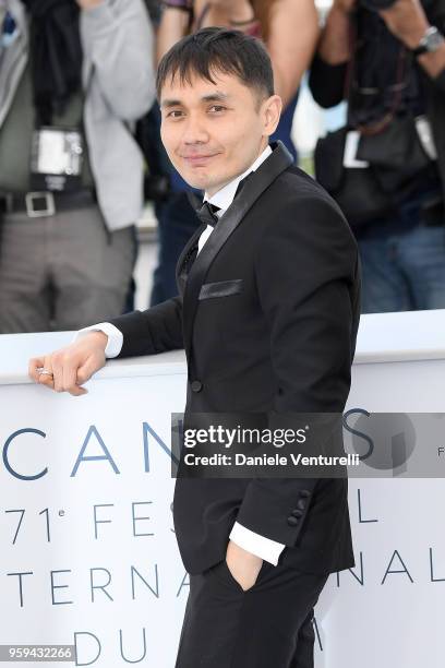
M362 313L445 308L445 227L358 240Z

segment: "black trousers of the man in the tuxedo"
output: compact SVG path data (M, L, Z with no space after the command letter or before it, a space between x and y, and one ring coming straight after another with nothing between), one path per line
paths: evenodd
M313 608L328 575L263 561L246 592L225 559L190 575L176 668L313 668Z

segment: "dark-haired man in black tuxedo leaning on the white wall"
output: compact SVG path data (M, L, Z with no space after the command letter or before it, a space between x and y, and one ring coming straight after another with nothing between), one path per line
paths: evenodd
M168 155L207 201L180 295L82 332L31 360L31 377L80 395L106 357L184 346L185 417L341 411L357 247L323 189L268 146L281 102L264 47L202 29L166 53L157 91ZM178 478L173 520L191 574L177 668L312 666L313 606L328 574L354 564L347 480Z

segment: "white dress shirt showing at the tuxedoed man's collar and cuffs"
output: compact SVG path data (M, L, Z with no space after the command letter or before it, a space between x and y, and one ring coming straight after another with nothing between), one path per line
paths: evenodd
M220 190L218 190L211 198L207 193L204 193L204 202L208 202L209 204L214 204L219 207L219 211L216 213L218 218L227 211L230 204L233 201L234 193L237 192L238 183L248 176L251 171L255 171L260 167L260 165L270 155L272 148L270 146L266 146L263 153L258 155L256 160L242 174L236 177L232 181L224 186ZM197 242L197 252L200 253L204 243L207 241L208 237L212 235L214 227L212 225L207 225L205 230L202 232L199 242ZM109 322L99 322L96 325L92 325L89 327L84 327L80 330L75 338L80 338L84 336L87 332L91 331L100 331L107 334L108 343L105 348L105 356L107 358L117 357L122 348L123 336L122 333L115 327ZM285 546L281 542L277 542L276 540L272 540L270 538L266 538L265 536L261 536L255 532L242 526L239 522L233 524L233 527L230 532L229 536L230 540L236 542L238 546L248 550L248 552L252 552L252 554L256 554L261 557L265 561L277 565L278 558L284 550Z

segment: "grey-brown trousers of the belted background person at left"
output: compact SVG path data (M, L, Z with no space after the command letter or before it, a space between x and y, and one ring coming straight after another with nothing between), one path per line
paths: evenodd
M134 228L108 232L97 205L0 220L0 334L77 330L122 313Z

